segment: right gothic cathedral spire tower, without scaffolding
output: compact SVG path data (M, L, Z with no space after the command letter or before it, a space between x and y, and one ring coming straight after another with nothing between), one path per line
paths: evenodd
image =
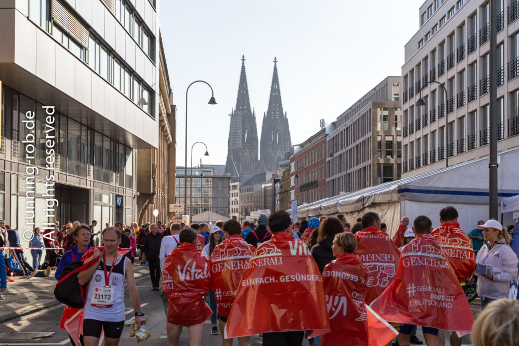
M274 58L274 73L268 100L267 113L263 114L260 141L260 171L276 171L283 155L290 150L290 129L286 113L283 113L277 59Z

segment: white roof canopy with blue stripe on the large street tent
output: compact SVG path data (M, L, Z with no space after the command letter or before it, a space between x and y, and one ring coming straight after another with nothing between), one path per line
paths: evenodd
M514 168L519 161L519 148L502 151L499 159L498 197L518 195L519 175ZM488 204L488 157L304 204L297 207L297 216L348 213L373 203L402 200Z

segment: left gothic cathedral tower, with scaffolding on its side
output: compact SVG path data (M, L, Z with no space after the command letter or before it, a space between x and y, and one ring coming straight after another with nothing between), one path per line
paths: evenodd
M258 172L258 135L256 115L251 112L249 87L245 74L245 57L241 57L240 84L236 108L231 111L225 173L231 175Z

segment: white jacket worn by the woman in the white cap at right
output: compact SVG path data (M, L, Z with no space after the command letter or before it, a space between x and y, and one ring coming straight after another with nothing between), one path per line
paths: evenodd
M490 266L490 273L494 278L490 280L481 276L476 267L477 295L489 299L508 298L510 281L517 278L517 262L517 255L504 238L499 239L492 248L483 244L477 252L476 264Z

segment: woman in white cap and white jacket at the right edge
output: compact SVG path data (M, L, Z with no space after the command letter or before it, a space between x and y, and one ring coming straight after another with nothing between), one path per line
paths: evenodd
M477 253L477 295L481 298L481 309L491 301L508 298L510 281L517 278L517 255L510 247L510 236L496 220L481 225L486 244ZM480 272L482 267L487 272Z

